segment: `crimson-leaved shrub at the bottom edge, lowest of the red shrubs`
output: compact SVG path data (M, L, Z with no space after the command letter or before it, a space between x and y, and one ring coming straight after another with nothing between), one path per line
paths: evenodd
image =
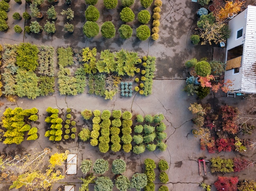
M222 177L219 176L214 186L218 191L237 191L238 177Z

